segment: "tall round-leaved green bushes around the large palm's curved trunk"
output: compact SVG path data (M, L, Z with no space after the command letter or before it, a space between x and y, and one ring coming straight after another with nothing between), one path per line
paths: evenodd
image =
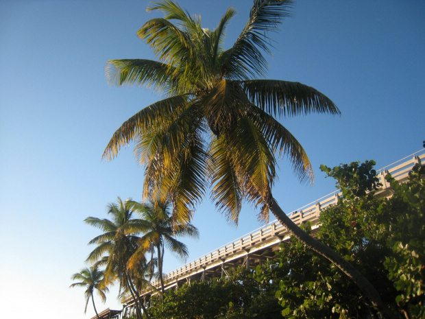
M343 198L321 212L317 237L359 269L400 318L425 318L424 167L409 181L391 176L393 196L378 198L374 162L341 165L337 179ZM306 225L306 231L311 228ZM278 262L256 270L258 281L278 281L285 318L367 318L375 310L358 288L334 266L295 239L282 244Z

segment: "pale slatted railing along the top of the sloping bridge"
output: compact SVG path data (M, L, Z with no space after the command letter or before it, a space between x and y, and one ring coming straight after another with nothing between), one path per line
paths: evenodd
M396 180L403 182L408 178L412 167L416 163L421 163L421 161L422 164L425 165L425 150L415 152L410 156L402 158L396 163L379 169L377 171L377 175L380 178L380 182L383 184L383 189L389 187L387 181L385 180L385 176L388 173L391 174L391 176L393 176L393 178ZM339 191L334 191L322 198L319 198L319 200L316 200L315 202L311 202L310 204L302 206L300 209L297 209L288 215L291 220L293 220L293 222L298 225L304 221L317 220L321 210L326 209L326 207L330 205L337 204L339 196L341 196L341 193L339 193ZM264 241L265 239L274 237L275 235L285 235L287 233L289 232L287 232L286 228L282 226L280 222L274 220L273 222L267 224L267 226L257 228L252 233L248 233L247 235L239 237L229 244L223 245L211 252L208 252L206 255L199 257L190 263L186 263L177 270L173 270L173 272L170 272L164 276L164 281L168 283L175 281L179 277L190 274L195 270L199 270L209 263L221 261L231 253L242 251L243 248L258 244L260 241ZM159 286L159 281L155 281L153 285Z

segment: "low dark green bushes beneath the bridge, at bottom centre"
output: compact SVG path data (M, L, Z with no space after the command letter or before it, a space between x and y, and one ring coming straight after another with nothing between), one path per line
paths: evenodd
M260 285L245 268L228 277L184 283L165 293L164 303L153 300L152 318L280 318L274 293Z

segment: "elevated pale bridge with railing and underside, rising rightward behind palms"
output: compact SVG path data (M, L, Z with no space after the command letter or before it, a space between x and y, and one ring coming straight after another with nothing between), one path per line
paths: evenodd
M376 196L391 196L391 186L385 180L385 176L388 173L399 182L404 182L409 177L409 172L415 164L422 163L422 165L425 165L424 158L425 150L421 150L378 170L378 177L383 186L376 192ZM332 204L337 204L340 195L339 191L330 193L328 196L324 196L292 212L290 217L298 225L311 222L312 230L314 231L319 227L320 212ZM208 254L164 275L165 289L178 287L185 282L203 281L217 276L226 276L229 268L238 266L254 268L263 261L272 259L274 252L279 249L280 243L289 239L290 236L289 231L277 220L270 222L267 226L258 228L256 231L212 252L208 252ZM157 289L147 289L141 293L141 296L149 297L157 294L160 290L160 282L154 281L152 285ZM127 303L127 308L132 307L132 298L127 298L125 303Z

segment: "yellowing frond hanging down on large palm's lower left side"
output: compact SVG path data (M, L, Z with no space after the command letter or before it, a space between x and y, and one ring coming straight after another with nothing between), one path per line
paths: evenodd
M199 202L207 186L204 178L208 158L204 150L205 128L199 119L199 111L194 110L195 105L182 113L166 130L152 135L156 139L154 143L143 141L146 137L143 136L136 145L136 150L140 152L136 158L147 157L147 151L150 156L145 167L144 198L151 196L159 202L170 199L179 218L191 215L188 207ZM143 149L145 145L150 148ZM151 192L152 189L155 191ZM187 221L189 217L184 218Z

